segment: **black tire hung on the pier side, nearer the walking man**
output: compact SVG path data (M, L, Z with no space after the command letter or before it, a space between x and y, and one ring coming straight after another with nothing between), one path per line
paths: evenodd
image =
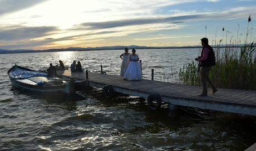
M159 94L151 94L147 97L147 104L151 110L159 110L162 106L161 96Z

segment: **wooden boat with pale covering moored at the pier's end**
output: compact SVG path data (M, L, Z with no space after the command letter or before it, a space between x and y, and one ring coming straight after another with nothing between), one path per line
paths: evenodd
M14 65L7 73L13 87L18 90L41 95L55 95L56 93L70 95L73 92L71 81L48 78L46 72Z

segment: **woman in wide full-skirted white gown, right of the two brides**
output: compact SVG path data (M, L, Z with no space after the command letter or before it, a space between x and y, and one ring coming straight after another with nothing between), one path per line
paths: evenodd
M141 68L140 68L140 62L139 56L136 53L135 49L132 49L132 54L130 55L130 64L126 69L125 72L125 80L141 80Z

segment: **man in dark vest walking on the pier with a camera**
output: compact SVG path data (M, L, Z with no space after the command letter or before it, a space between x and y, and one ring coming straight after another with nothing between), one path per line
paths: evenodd
M214 66L215 63L215 55L213 48L208 44L207 38L201 39L201 45L203 46L203 49L201 51L201 56L196 58L196 61L199 61L200 63L200 80L201 84L203 86L203 92L201 92L198 96L207 96L207 82L209 82L211 88L213 89L213 93L218 91L215 86L213 85L213 82L209 79L209 72L211 70L211 67Z

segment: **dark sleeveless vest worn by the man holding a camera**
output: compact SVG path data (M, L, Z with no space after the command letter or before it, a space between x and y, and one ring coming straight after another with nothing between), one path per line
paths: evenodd
M211 48L210 45L206 45L203 47L202 51L201 51L201 57L203 56L203 51L204 51L204 48L208 48L210 51L208 53L208 56L207 56L207 59L202 61L200 63L201 66L213 66L215 65L215 55L214 55L214 51L213 51L213 48Z

